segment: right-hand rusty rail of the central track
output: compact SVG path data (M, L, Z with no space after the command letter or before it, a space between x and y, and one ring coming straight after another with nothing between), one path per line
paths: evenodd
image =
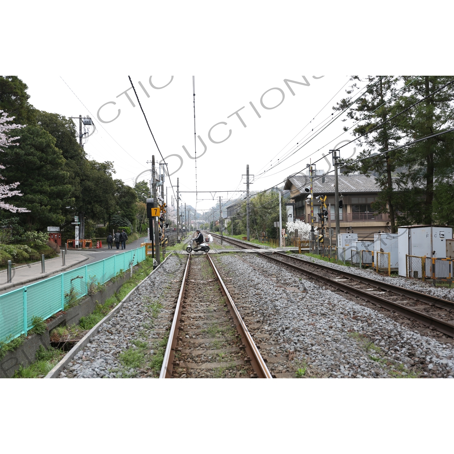
M233 322L235 323L235 326L237 327L237 331L241 336L243 345L246 348L246 353L249 356L249 358L251 358L252 369L254 369L258 378L272 378L271 373L268 370L268 368L266 367L265 361L263 360L262 355L260 354L260 351L257 348L257 345L255 344L254 340L252 339L252 336L249 333L249 330L247 329L247 326L244 323L242 316L238 312L237 306L235 306L235 303L232 300L232 296L230 296L230 293L227 290L227 287L225 286L224 282L222 281L221 275L217 271L217 268L214 265L212 258L208 254L207 254L207 257L208 257L208 261L210 262L210 264L213 268L214 274L217 277L217 281L219 282L219 285L221 286L221 291L224 294L224 296L226 297L227 306L233 317Z

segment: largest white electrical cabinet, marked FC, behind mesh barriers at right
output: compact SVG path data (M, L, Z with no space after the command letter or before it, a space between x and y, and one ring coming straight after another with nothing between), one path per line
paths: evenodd
M446 258L446 239L453 237L452 227L399 227L399 276L406 276L406 255Z

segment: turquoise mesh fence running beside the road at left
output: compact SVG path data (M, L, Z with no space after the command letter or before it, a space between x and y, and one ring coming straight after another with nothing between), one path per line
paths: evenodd
M90 287L104 284L143 260L145 247L138 247L0 295L0 342L26 334L33 327L33 317L45 320L62 311L71 290L77 298L85 296Z

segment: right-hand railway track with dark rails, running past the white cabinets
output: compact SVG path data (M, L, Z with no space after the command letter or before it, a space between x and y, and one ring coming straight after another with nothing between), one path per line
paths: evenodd
M212 234L213 235L213 234ZM220 235L214 235L219 238ZM223 241L243 249L257 248L243 242L226 239ZM259 249L259 248L257 248ZM261 249L261 248L260 248ZM381 306L392 313L400 314L412 321L422 323L432 330L437 330L446 336L454 337L454 302L436 296L406 289L375 279L356 275L349 271L340 271L321 263L291 257L282 252L262 254L269 260L279 262L292 270L310 276L336 289L357 296L366 302Z

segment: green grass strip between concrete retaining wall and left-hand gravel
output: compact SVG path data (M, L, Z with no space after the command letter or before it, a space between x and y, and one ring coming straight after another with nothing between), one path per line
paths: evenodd
M118 291L108 298L103 304L97 304L94 311L80 319L79 325L59 326L50 332L50 340L52 342L67 341L77 336L83 336L87 331L98 324L117 304L128 295L128 293L137 284L145 279L151 271L153 271L153 260L147 257L143 262L139 263L138 269L133 273L133 277L128 279ZM120 273L118 277L124 276ZM35 355L35 362L27 367L20 366L16 370L13 378L42 378L49 373L59 360L66 354L65 351L49 347L45 350L42 345L39 346Z

